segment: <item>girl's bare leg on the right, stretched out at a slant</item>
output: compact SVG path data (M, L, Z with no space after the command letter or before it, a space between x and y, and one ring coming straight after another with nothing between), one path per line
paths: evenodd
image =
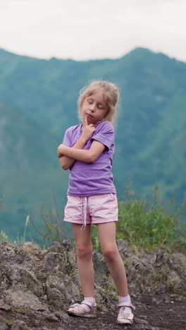
M106 224L97 224L97 229L101 251L109 265L109 271L111 272L113 281L118 288L119 295L125 297L128 295L128 283L123 260L116 245L116 223L107 222Z

